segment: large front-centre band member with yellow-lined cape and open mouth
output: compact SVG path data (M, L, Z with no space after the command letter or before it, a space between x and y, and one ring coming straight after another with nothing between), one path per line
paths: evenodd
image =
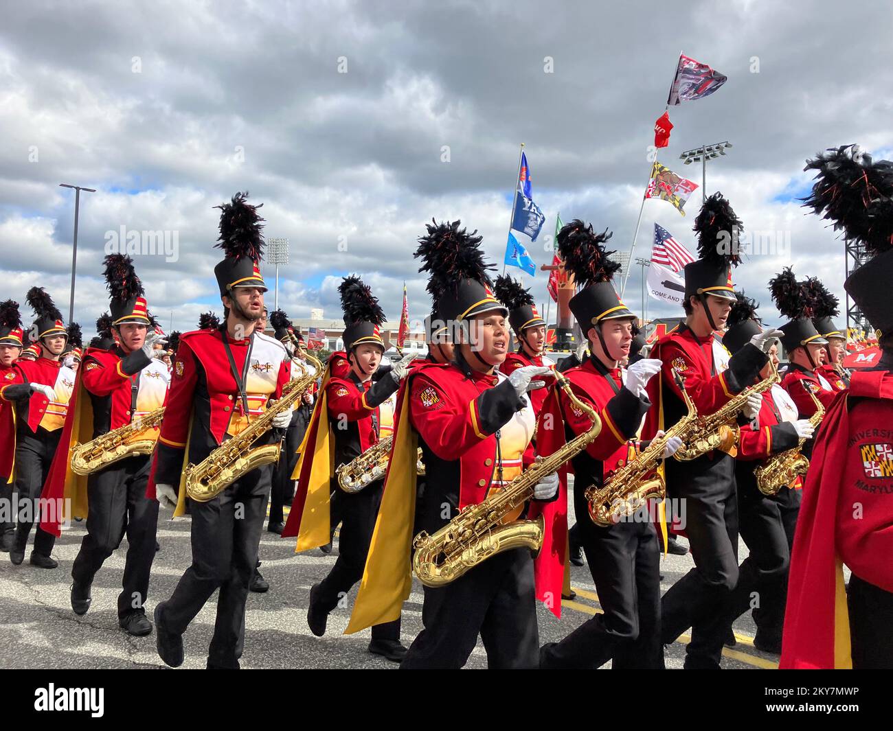
M528 366L507 377L497 370L508 353L508 312L489 286L480 237L460 226L458 220L429 224L415 253L424 262L421 271L430 272L428 290L439 318L457 326L455 360L414 367L401 388L384 502L348 633L399 617L412 586L413 529L437 531L465 506L502 489L533 459L528 447L535 424L526 392L548 370ZM417 445L426 474L418 502ZM534 493L551 500L557 484L550 476ZM555 556L545 544L543 560ZM501 552L447 586L426 586L422 623L401 668L461 668L478 635L490 668L536 667L530 551Z

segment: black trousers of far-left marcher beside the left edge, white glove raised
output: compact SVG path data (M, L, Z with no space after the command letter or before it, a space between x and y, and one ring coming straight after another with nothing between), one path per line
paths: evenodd
M15 491L19 494L19 522L15 531L15 548L24 551L34 524L38 524L34 536L34 552L49 556L53 551L55 536L40 527L38 501L43 492L46 476L53 462L62 429L46 431L38 427L37 434L27 425L21 427L15 438ZM21 505L27 501L27 505Z

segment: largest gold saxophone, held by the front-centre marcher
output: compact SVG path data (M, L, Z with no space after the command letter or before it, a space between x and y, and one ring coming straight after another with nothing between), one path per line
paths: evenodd
M543 544L543 516L535 520L514 520L503 524L505 516L533 496L533 488L564 462L587 448L602 430L601 419L573 394L570 383L557 371L555 382L578 408L585 411L592 426L548 457L538 457L530 468L508 486L488 495L477 505L464 508L446 526L432 535L422 531L413 539L413 571L425 586L445 586L497 553L513 548L539 552Z

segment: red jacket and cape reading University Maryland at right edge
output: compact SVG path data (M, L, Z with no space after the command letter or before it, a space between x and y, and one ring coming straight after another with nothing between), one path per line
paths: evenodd
M893 592L893 373L856 371L825 424L797 518L781 668L847 667L840 562Z

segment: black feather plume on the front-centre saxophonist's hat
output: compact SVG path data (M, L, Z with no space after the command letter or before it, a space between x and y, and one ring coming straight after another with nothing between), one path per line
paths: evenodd
M443 292L453 291L460 279L476 279L489 285L488 270L495 267L484 261L480 251L480 236L475 236L462 226L461 220L438 223L431 219L425 224L428 233L418 239L419 246L413 253L421 259L419 271L429 273L428 292L435 299Z

